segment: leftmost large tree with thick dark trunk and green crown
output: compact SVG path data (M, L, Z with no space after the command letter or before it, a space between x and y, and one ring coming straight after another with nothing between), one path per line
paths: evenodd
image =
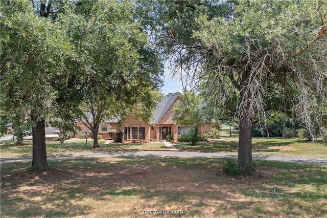
M2 107L7 112L13 107L30 112L31 171L47 170L45 119L57 106L56 87L66 86L69 72L66 61L72 49L63 29L50 20L51 2L48 7L40 3L41 16L28 1L1 1L0 4Z

